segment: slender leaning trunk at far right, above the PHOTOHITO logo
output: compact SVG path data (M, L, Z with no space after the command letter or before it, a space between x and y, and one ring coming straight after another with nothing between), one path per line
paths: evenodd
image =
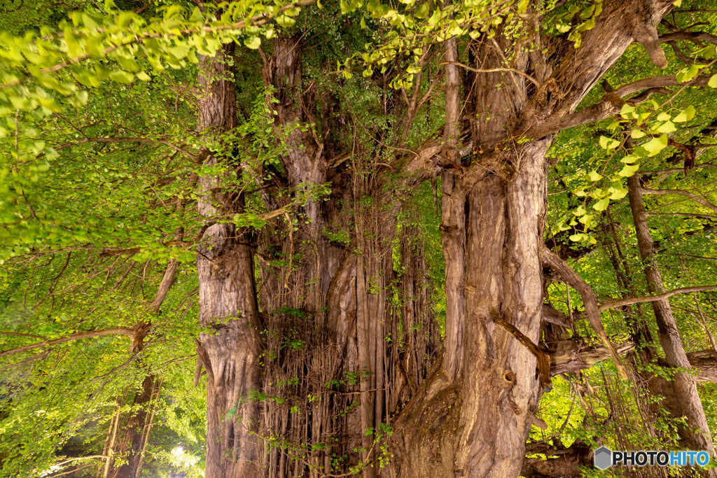
M647 214L645 204L642 202L640 191L640 177L631 176L627 180L630 195L630 209L632 218L635 221L637 234L637 246L640 248L640 256L645 264L645 277L647 288L650 294L657 295L665 292L663 278L655 260L655 247L652 245L652 235L647 225ZM663 346L665 359L670 367L690 369L685 348L680 338L677 322L670 307L668 299L655 300L652 303L652 310L657 320L657 333L660 338L660 345ZM691 450L706 450L714 456L714 448L710 430L707 424L705 412L702 408L700 396L697 393L695 380L689 373L675 373L673 381L655 381L655 392L665 396L665 406L675 418L685 417L688 426L679 426L680 444ZM717 471L709 472L709 476L717 477Z

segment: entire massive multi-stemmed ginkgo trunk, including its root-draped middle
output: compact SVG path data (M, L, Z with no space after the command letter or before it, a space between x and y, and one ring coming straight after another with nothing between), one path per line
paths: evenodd
M443 170L445 347L422 382L420 374L412 380L415 371L385 340L387 333L398 332L389 328L396 322L389 287L394 278L391 240L401 201L391 201L386 193L393 185L389 174L381 174L385 163L376 159L386 153L384 145L371 149L354 133L347 155L351 168L342 168L347 159L334 156L346 152L333 148L329 134L339 115L328 114L330 97L319 107L315 85L302 83L301 37L277 39L269 56L262 52L265 86L274 92L269 100L276 105L277 145L286 148L283 168L274 171L277 183L262 184L262 195L269 209L284 209L298 221L296 227L261 233L266 239L259 247L261 317L248 232L221 222L206 230L212 247L200 250L197 263L200 322L217 330L216 335L202 334L198 346L209 375L207 476L251 477L259 468L270 477L320 476L360 465L364 477L376 477L381 474L376 461L387 457L376 453L376 429L389 419L388 411L408 398L407 388L412 398L394 421L391 473L412 478L518 476L531 424L539 423L534 415L538 401L550 383L546 353L536 343L543 317L545 155L557 130L534 131L570 115L634 37L663 66L664 55L654 48L654 25L670 5L606 1L579 49L565 39L543 44L532 29L535 47L530 52L517 46L521 39L500 31L494 39L486 35L470 43L468 56L480 67L501 69L511 57L511 67L533 82L513 72L470 73L461 95L460 70L446 65L446 125L438 163ZM447 40L445 48L449 62L460 59L455 39ZM200 82L212 94L201 104L199 127L212 128L209 134L235 125L233 89L224 79L231 68L221 58L201 62ZM315 117L319 110L320 121ZM342 121L337 126L346 128ZM321 130L307 128L310 123L320 124ZM422 165L441 149L430 148L427 156L423 151L416 155ZM465 158L467 150L473 150L470 159ZM212 153L206 164L221 161L227 160ZM232 166L239 170L238 164ZM389 168L394 166L406 164L397 159ZM405 169L415 171L412 167ZM199 210L205 216L242 210L240 194L216 193L220 179L202 179L207 196ZM329 181L326 203L312 194L298 197ZM277 199L269 192L286 187L293 198ZM361 209L366 196L374 200L372 211ZM348 211L341 204L350 204ZM326 237L337 223L352 232L351 244ZM559 265L561 273L569 270ZM582 285L585 297L594 299L584 281ZM591 307L591 324L609 345L597 305ZM217 318L230 320L214 325ZM260 325L266 325L267 336L261 380ZM617 357L615 350L611 353ZM392 376L398 371L405 375L401 380ZM358 383L349 382L347 373L358 377ZM246 399L259 388L263 397L272 398L264 401L261 417L256 403ZM233 407L235 415L229 413ZM255 432L265 440L266 453L260 452ZM286 441L269 440L270 435ZM361 447L359 457L349 452ZM335 456L344 461L333 463Z

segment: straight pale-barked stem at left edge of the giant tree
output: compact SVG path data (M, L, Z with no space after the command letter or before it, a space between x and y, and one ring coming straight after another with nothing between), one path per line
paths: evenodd
M210 138L208 143L214 140L214 148L222 143L222 133L237 126L233 55L234 44L229 44L216 57L203 57L199 63L198 129ZM225 146L229 149L225 156L214 156L211 151L204 166L222 164L228 167L227 176L241 178L232 146ZM224 179L231 177L200 178L205 194L199 201L200 214L226 217L243 211L242 193L227 186ZM252 391L260 389L260 321L248 236L247 229L234 224L212 224L204 232L196 259L199 323L212 328L212 333L201 333L197 342L209 379L205 473L212 478L260 476L255 436L259 416L252 396Z

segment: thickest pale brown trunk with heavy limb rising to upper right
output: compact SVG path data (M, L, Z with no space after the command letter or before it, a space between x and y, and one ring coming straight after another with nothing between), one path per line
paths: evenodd
M572 113L636 32L647 32L641 39L654 46L654 25L669 4L634 3L604 2L579 49L556 46L557 62L541 57L539 34L532 54L518 53L500 32L469 46L483 69L503 67L508 51L514 53L512 64L535 75L539 87L526 87L524 78L512 73L467 75L464 97L470 101L462 108L456 67L446 67L445 352L396 423L401 477L518 477L521 472L526 438L538 422L533 414L549 383L538 373L541 352L535 344L543 305L545 154L551 137L522 145L515 137L552 115ZM445 47L447 61L455 62L455 40ZM651 57L664 66L664 57L653 50ZM470 116L473 164L461 163L458 152L465 115ZM591 323L607 340L593 308Z

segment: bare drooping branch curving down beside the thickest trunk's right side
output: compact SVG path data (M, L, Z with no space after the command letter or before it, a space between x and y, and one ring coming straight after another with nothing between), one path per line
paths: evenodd
M587 282L585 282L583 278L567 264L567 262L548 249L545 244L542 244L541 247L541 259L543 260L543 265L552 267L556 272L558 272L558 274L560 274L565 282L580 292L590 325L595 333L597 333L598 337L602 340L602 343L605 344L607 350L610 351L612 360L615 362L615 367L617 367L617 372L624 380L627 380L625 365L622 365L622 360L620 359L619 353L617 353L617 349L614 345L612 345L612 342L610 342L610 339L607 337L607 332L605 332L605 328L602 326L595 292L593 292Z

